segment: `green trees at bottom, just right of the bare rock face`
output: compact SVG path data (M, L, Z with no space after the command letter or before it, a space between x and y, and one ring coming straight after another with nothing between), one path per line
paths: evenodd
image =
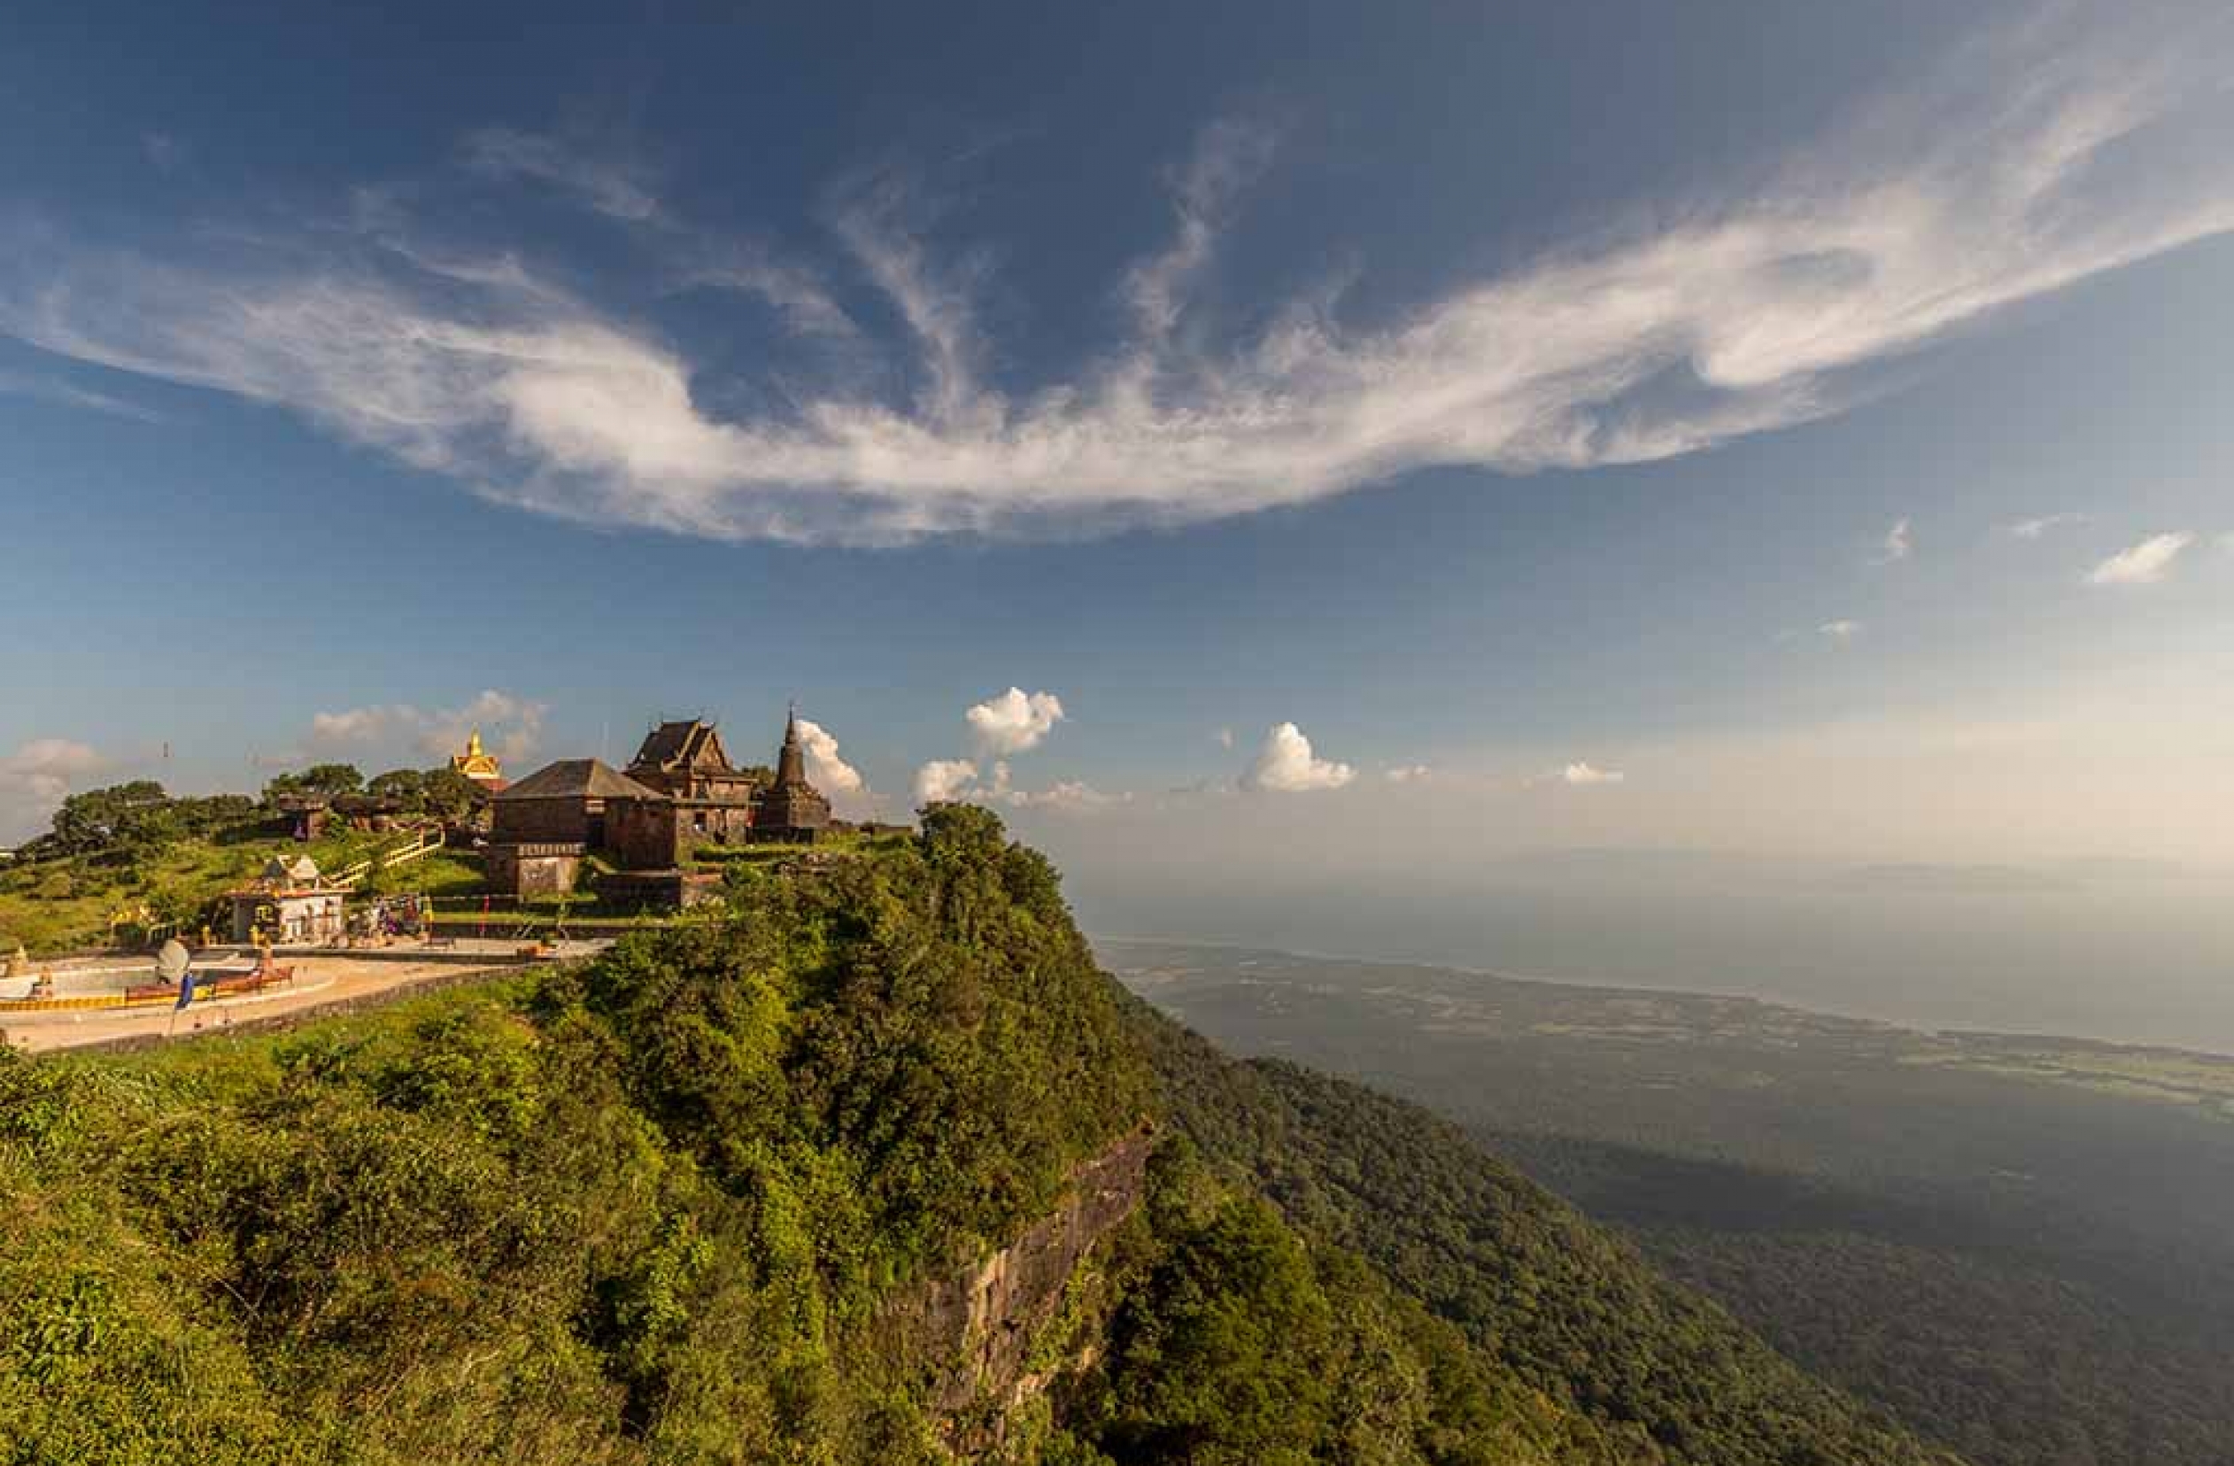
M1048 1462L1586 1466L1631 1459L1352 1251L1307 1240L1186 1142L1110 1260L1097 1365Z

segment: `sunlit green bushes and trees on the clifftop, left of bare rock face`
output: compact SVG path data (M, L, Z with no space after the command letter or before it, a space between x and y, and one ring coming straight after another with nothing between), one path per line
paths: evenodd
M878 1303L1146 1104L1052 872L974 811L585 970L9 1055L0 1455L920 1459Z

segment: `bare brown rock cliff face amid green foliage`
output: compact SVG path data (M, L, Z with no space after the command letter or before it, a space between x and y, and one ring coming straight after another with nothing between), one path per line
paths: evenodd
M1014 1243L927 1283L896 1310L918 1356L941 1361L927 1406L956 1455L999 1448L1016 1408L1048 1388L1054 1370L1032 1368L1034 1348L1063 1312L1081 1263L1139 1207L1151 1149L1148 1126L1121 1137L1081 1164L1066 1200Z

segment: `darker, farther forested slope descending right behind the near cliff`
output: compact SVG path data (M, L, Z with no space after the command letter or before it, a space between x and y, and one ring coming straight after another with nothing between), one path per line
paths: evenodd
M1461 1129L1307 1068L1229 1059L1142 1001L1128 1017L1204 1155L1606 1426L1633 1459L1950 1459L1658 1276Z

